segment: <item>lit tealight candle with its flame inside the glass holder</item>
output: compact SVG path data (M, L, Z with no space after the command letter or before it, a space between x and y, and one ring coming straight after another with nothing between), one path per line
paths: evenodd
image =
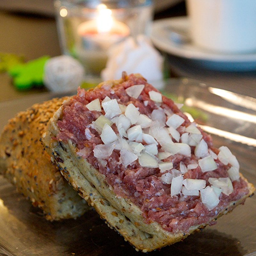
M99 75L106 65L108 48L129 36L130 29L114 20L105 4L99 4L96 18L81 23L77 34L80 38L76 49L78 59L90 73Z

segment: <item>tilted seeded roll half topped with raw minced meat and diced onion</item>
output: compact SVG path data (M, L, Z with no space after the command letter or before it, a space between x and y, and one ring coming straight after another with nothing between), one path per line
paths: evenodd
M254 191L230 150L214 148L140 75L78 89L42 140L69 183L142 252L214 224Z

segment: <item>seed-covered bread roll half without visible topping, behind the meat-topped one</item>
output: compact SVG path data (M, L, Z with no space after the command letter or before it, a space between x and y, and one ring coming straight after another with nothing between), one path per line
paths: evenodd
M9 120L0 138L0 173L34 206L42 208L47 220L76 218L89 207L69 186L40 142L63 100L35 104L18 113Z

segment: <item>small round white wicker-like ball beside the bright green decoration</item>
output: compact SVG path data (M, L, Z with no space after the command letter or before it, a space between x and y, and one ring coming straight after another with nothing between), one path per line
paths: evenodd
M44 85L53 92L74 91L84 79L84 67L74 58L61 55L44 65Z

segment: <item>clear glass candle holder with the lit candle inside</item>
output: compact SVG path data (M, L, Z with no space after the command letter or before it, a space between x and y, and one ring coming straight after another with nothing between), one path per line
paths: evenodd
M151 0L57 0L57 27L63 54L78 59L86 79L100 77L108 49L128 36L148 35Z

